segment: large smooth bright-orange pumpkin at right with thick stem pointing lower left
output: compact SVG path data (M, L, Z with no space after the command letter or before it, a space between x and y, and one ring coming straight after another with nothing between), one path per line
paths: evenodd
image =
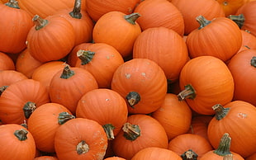
M180 73L179 85L182 92L178 98L186 100L188 106L201 115L214 115L211 106L230 102L235 86L226 64L209 55L188 61Z

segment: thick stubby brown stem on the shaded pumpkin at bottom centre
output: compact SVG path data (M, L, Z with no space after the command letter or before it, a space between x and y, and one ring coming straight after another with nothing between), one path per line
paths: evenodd
M123 126L124 137L128 140L135 140L140 137L140 127L139 125L131 125L130 123L125 123Z

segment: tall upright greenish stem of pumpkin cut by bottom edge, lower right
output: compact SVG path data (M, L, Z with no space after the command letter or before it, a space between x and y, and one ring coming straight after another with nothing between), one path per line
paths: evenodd
M231 154L230 143L231 143L230 134L228 133L223 134L222 138L220 139L220 144L218 148L215 151L213 151L213 153L216 153L219 156L225 156L227 154Z

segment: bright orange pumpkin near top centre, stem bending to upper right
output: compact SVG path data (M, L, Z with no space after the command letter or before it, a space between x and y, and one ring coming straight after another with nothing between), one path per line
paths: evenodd
M135 39L140 35L140 25L136 22L140 14L137 12L126 15L123 12L107 12L92 30L95 43L106 43L113 46L123 57L132 54Z

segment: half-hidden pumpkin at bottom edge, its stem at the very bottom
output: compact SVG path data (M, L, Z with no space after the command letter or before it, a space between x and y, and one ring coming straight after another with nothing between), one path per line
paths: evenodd
M213 148L200 135L180 134L169 141L168 149L177 153L183 159L200 159L202 155L211 151Z

